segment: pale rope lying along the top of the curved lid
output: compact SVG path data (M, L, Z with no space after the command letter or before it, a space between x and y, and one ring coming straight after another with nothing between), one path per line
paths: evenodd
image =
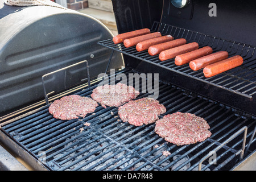
M67 8L50 0L5 0L5 3L9 6L52 6L68 10Z

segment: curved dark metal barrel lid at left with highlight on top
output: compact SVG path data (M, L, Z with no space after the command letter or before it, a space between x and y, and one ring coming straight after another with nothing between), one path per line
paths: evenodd
M44 98L41 77L51 71L88 60L91 78L105 72L111 51L97 42L113 35L98 20L58 7L7 6L1 1L0 9L0 113ZM111 68L120 68L121 54L114 57ZM70 82L76 84L84 71L67 73ZM47 81L56 93L63 87L53 83L62 77Z

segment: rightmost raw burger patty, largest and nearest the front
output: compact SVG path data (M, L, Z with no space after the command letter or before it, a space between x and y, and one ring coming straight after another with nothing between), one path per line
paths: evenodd
M168 142L183 145L202 142L212 135L207 121L195 114L174 113L156 121L155 132Z

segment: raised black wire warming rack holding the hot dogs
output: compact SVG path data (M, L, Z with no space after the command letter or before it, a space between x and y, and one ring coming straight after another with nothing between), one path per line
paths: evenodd
M103 40L98 42L98 44L113 49L113 51L122 52L125 55L158 65L180 73L181 75L195 78L196 80L207 82L208 84L218 86L222 89L229 90L230 92L237 93L248 98L253 98L253 96L255 96L256 57L254 55L254 51L256 47L159 22L154 22L151 32L154 31L160 31L162 35L170 34L175 39L184 38L187 40L187 43L197 42L199 43L199 48L210 46L213 48L213 52L227 51L229 56L241 55L244 62L240 67L206 78L204 77L203 69L200 69L199 71L192 71L192 69L189 68L189 64L177 66L174 63L174 59L160 61L158 55L150 56L147 51L138 52L135 47L126 48L123 46L123 43L114 44L112 39Z

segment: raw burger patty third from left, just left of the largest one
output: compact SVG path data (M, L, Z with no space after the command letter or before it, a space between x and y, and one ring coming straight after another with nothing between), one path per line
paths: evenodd
M131 125L142 126L153 123L158 120L158 116L166 112L166 107L159 104L154 98L141 98L130 101L119 107L118 114L123 122L129 122Z

